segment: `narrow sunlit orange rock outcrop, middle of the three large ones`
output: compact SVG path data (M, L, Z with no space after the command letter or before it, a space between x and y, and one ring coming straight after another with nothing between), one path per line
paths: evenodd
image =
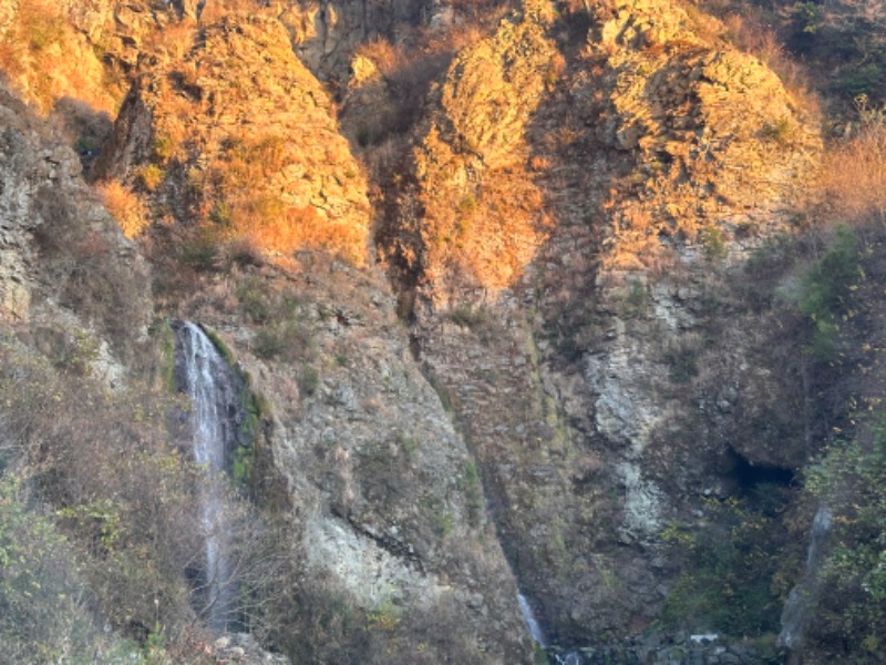
M399 229L396 256L429 297L465 284L508 286L544 237L542 194L524 172L525 132L555 66L545 33L552 12L547 2L526 3L457 54L429 102L410 195L422 222Z

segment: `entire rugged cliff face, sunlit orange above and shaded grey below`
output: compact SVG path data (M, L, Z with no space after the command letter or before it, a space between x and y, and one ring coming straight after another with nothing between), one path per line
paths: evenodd
M285 534L262 638L310 662L528 662L517 587L563 645L701 630L687 589L711 543L802 531L789 484L845 424L815 410L848 402L804 346L805 249L776 238L822 141L718 21L659 0L28 9L0 9L0 57L27 54L2 60L4 334L60 381L150 386L151 412L172 399L162 320L215 334L257 396L240 481ZM38 89L69 49L86 82L53 66ZM174 449L161 430L140 440ZM93 510L102 478L70 497ZM771 582L769 623L735 633L775 630L803 556L780 539L783 569L730 563ZM114 625L137 634L146 597Z

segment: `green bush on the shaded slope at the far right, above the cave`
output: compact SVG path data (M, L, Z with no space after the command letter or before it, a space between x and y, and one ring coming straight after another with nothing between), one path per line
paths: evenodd
M822 360L836 356L841 318L853 288L864 277L857 245L848 226L836 227L831 249L800 278L797 307L813 324L808 349Z

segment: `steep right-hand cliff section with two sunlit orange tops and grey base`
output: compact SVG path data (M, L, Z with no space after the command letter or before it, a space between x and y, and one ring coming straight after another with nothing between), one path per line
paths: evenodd
M785 228L821 142L715 23L658 2L559 25L552 10L524 3L455 60L389 233L416 285L419 357L521 584L552 637L580 643L657 616L679 573L662 530L731 468L725 439L684 429L707 419L686 388L705 308L722 267ZM717 348L740 362L729 339ZM758 393L777 391L759 372L744 375ZM719 395L720 420L738 417ZM751 463L802 459L734 446Z

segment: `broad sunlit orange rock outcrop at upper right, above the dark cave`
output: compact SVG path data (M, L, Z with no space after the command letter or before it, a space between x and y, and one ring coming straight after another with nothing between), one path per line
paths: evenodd
M712 250L720 238L740 246L771 234L813 176L822 144L812 111L720 32L714 19L660 2L595 10L570 93L578 123L633 161L605 203L612 267L645 267L631 247L655 260L657 241Z

